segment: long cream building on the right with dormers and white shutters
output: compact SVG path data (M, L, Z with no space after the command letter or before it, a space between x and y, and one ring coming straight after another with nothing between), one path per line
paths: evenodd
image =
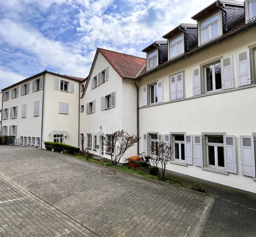
M216 1L143 50L140 152L171 143L169 171L256 192L255 9Z

